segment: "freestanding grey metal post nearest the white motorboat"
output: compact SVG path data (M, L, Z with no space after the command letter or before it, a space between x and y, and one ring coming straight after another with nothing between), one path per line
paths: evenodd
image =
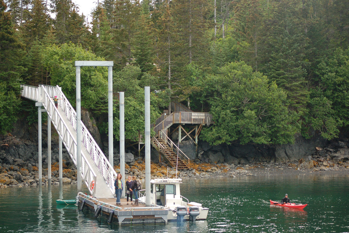
M144 87L145 145L146 145L146 206L150 206L150 87Z

